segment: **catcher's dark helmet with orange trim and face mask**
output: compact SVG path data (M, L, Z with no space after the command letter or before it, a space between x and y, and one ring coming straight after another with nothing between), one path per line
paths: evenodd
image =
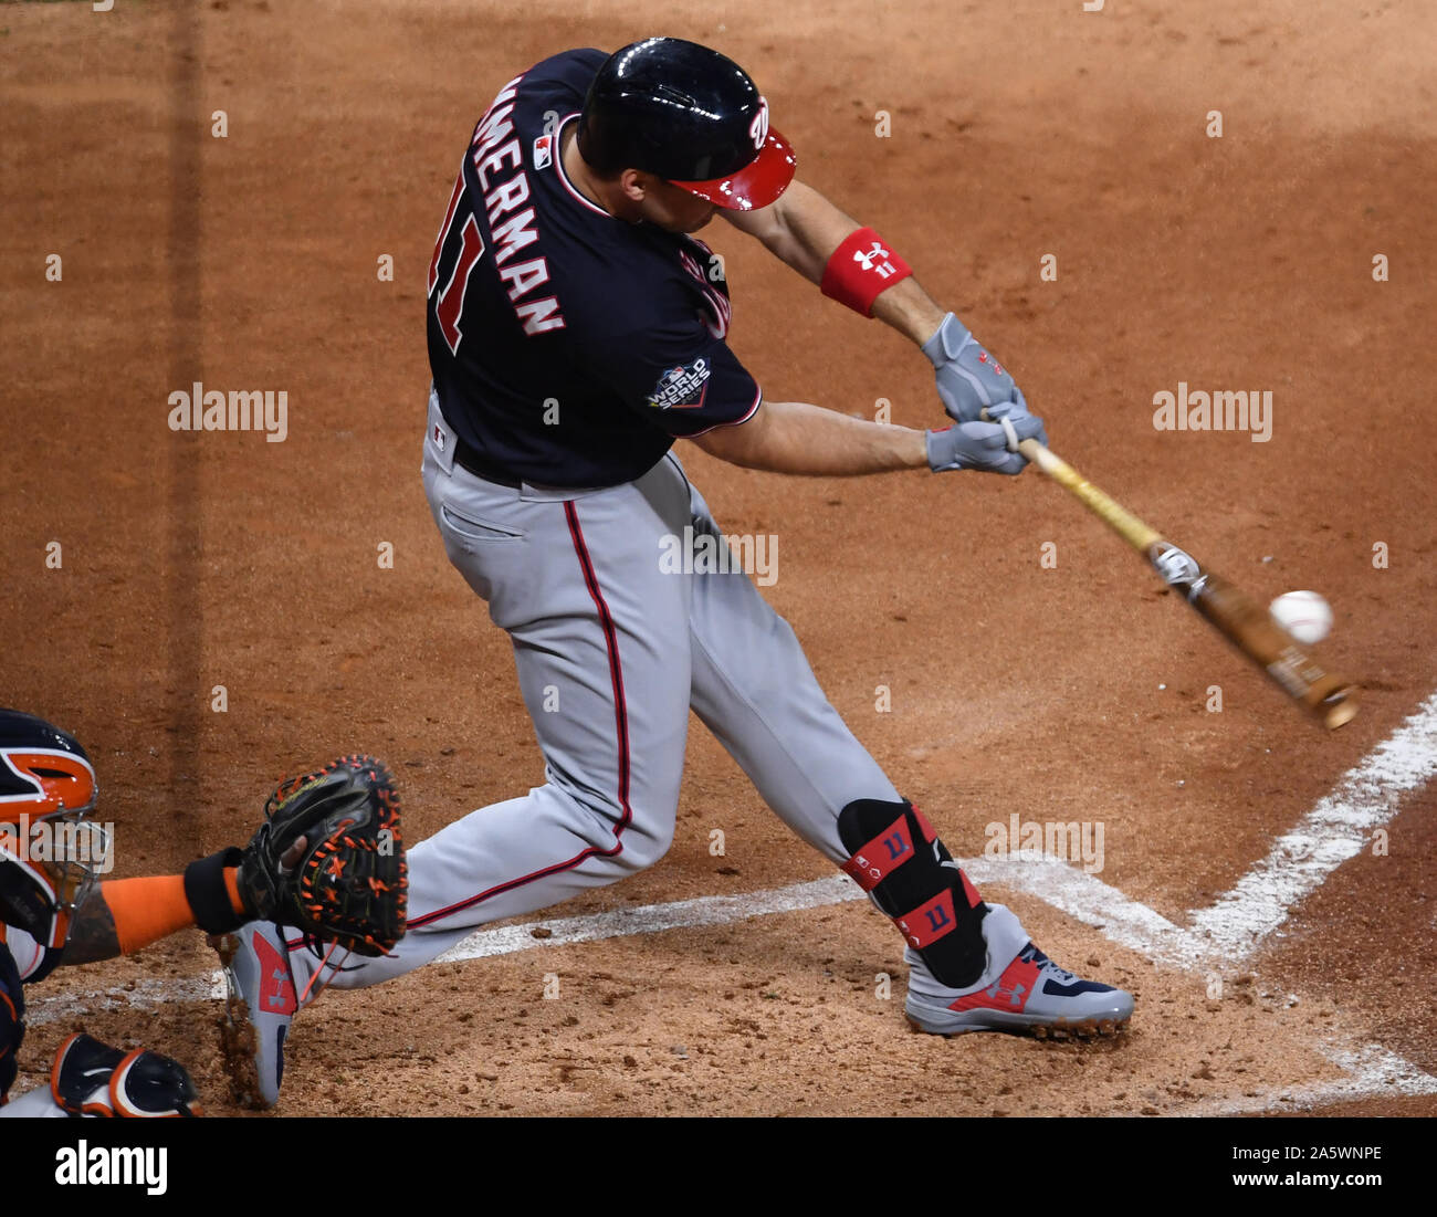
M80 828L95 809L96 789L89 757L69 731L33 714L0 710L0 845L30 876L24 888L30 897L22 901L14 891L9 897L0 891L6 897L0 911L10 905L16 922L40 930L34 937L50 947L65 943L69 914L95 881L93 864L109 856L99 825Z

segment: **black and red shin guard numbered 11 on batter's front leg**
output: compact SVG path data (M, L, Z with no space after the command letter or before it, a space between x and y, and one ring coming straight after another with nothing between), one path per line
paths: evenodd
M987 905L912 803L858 799L838 813L844 871L891 917L941 984L973 984L987 963Z

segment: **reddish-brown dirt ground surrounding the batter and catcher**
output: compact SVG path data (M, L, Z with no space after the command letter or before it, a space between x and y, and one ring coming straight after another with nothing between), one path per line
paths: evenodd
M631 0L0 4L0 704L86 744L116 875L246 838L282 773L354 749L395 767L415 839L542 782L507 641L420 486L424 270L497 88L648 33L754 75L800 177L1015 369L1056 451L1256 596L1335 608L1325 654L1364 708L1326 734L1033 471L799 481L681 445L727 530L779 536L763 593L956 855L1012 815L1101 825L1094 882L1187 925L1437 690L1437 10L874 9L684 3L654 29ZM894 333L727 226L703 236L770 399L943 422ZM283 443L171 431L194 382L283 391ZM1155 430L1180 382L1270 391L1270 438ZM1137 991L1117 1043L910 1035L878 981L901 999L892 930L819 902L328 994L295 1024L280 1115L1437 1114L1434 797L1392 795L1385 852L1240 966L1154 960L986 884L1059 961ZM678 815L658 866L546 915L831 874L697 723ZM177 1056L234 1114L193 984L213 967L185 934L57 973L22 1085L83 1023Z

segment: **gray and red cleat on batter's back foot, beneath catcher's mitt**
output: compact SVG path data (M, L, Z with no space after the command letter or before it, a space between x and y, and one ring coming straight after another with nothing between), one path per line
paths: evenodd
M210 938L224 970L220 1056L230 1095L244 1108L272 1108L285 1076L285 1037L299 1009L289 950L277 925L251 921Z

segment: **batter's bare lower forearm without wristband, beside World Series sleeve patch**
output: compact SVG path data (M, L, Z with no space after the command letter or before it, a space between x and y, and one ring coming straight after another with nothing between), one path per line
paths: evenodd
M740 427L694 440L706 453L767 473L854 477L927 468L923 431L849 418L802 401L770 401Z

